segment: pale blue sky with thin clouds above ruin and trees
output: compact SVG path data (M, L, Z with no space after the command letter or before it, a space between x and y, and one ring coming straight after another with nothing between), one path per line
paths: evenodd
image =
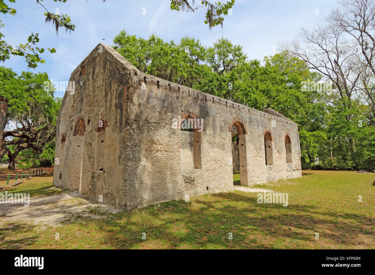
M123 29L143 38L156 34L165 41L195 37L203 46L212 46L223 36L242 45L249 59L263 60L264 56L277 53L278 42L293 39L301 27L319 23L337 6L336 0L236 0L232 15L224 17L223 28L216 26L210 30L204 24L204 8L194 13L171 11L168 0L44 0L41 3L49 12L67 14L75 24L75 31L65 33L65 28L60 28L56 36L55 27L45 23L45 9L36 0L5 2L17 10L15 16L1 13L5 40L19 45L26 43L31 32L39 33L39 47L55 48L56 53L43 53L45 63L35 69L27 68L24 58L18 56L0 65L18 74L27 70L46 72L50 79L59 82L68 81L72 71L98 43L113 45L114 36ZM199 5L200 1L195 3ZM55 96L63 97L64 93L57 90Z

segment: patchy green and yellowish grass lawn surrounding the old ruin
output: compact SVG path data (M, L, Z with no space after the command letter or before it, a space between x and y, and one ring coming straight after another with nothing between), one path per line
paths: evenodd
M40 179L12 192L61 192L50 189L51 177ZM253 186L288 193L288 207L236 190L125 213L90 209L95 218L79 215L57 227L0 218L0 248L375 248L374 180L372 173L306 170L302 178Z

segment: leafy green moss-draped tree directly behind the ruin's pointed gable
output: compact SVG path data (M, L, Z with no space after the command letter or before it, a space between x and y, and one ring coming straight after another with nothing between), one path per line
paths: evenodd
M138 70L190 88L210 70L204 64L205 48L198 39L185 36L179 43L165 42L154 34L144 39L122 30L113 42L114 49Z

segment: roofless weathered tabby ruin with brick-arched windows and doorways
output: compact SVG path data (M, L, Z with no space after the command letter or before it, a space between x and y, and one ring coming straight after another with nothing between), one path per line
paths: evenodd
M233 169L243 186L302 175L297 124L272 109L142 73L101 43L69 83L55 186L129 210L233 190Z

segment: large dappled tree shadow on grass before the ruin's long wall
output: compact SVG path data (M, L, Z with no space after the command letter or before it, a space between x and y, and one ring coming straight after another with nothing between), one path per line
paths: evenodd
M194 204L179 200L162 203L157 209L155 205L141 208L144 216L139 220L132 219L133 212L100 222L115 228L106 235L118 248L288 248L279 239L293 243L290 248L322 248L314 238L315 232L341 245L343 235L349 237L354 229L367 230L373 225L363 215L330 216L317 213L312 205L258 204L256 198L238 193L216 193L193 201ZM338 221L338 217L347 220ZM366 223L358 223L357 219L365 219ZM325 231L326 228L332 230ZM146 233L146 240L141 238L142 232ZM233 235L231 240L229 233Z

